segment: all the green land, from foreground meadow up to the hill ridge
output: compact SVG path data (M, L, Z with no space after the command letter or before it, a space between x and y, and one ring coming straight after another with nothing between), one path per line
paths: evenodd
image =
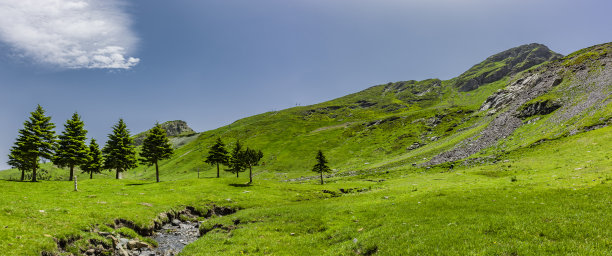
M141 166L124 180L79 174L77 192L43 164L52 181L0 180L0 251L169 255L159 237L187 225L180 255L608 255L612 43L559 59L547 49L175 131L160 183ZM203 163L218 137L264 152L254 183ZM318 149L334 169L324 185L310 177Z

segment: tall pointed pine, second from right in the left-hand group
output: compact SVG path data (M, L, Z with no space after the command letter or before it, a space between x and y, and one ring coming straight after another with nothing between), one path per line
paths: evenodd
M134 140L130 136L123 119L113 126L113 133L108 135L108 141L102 149L104 156L104 169L116 170L116 179L119 174L138 166L136 159L136 147Z

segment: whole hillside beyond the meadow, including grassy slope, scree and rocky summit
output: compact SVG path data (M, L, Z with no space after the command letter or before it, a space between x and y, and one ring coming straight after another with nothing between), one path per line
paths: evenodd
M501 152L608 125L610 48L603 44L559 58L546 46L529 44L495 54L454 79L382 84L244 118L200 133L162 168L171 179L212 171L203 159L217 137L261 149L264 163L256 170L266 179L312 175L318 149L336 175L468 157L494 160ZM146 169L129 175L148 178Z

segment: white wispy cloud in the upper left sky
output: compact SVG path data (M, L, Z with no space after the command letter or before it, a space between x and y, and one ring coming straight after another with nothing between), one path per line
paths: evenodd
M61 68L129 69L138 39L122 0L0 0L0 40Z

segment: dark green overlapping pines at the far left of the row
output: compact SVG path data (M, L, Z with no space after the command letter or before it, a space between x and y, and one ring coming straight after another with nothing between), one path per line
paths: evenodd
M18 169L32 170L32 181L36 181L36 169L41 159L51 159L55 148L55 125L51 117L45 116L45 110L38 105L30 113L29 120L23 123L19 137L11 148L8 164ZM24 172L22 171L22 178Z

